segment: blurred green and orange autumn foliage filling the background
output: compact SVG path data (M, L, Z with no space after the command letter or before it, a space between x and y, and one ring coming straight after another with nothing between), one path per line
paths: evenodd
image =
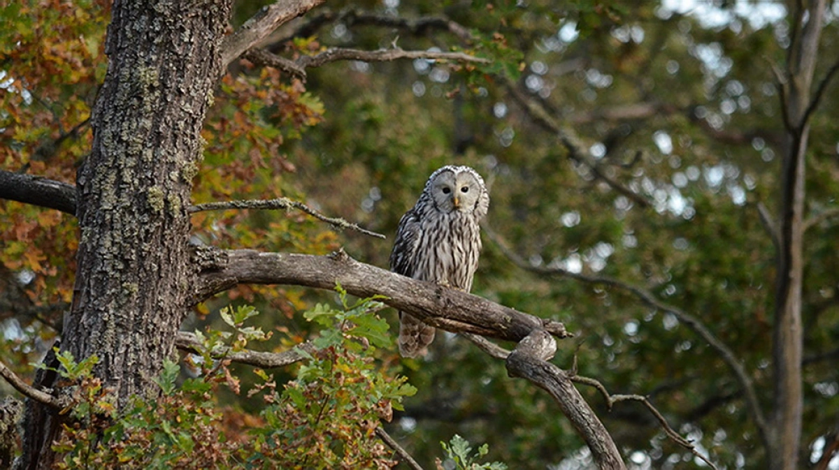
M237 4L232 23L263 3ZM108 4L0 10L13 18L0 22L3 169L75 181L107 67ZM839 3L828 10L820 78L839 45ZM627 287L700 318L769 405L774 248L760 208L778 212L784 125L772 66L784 62L790 28L783 2L330 2L281 28L269 48L292 58L328 47L457 49L494 62L478 70L427 59L336 62L307 70L305 81L247 60L232 65L206 122L195 203L286 196L388 240L335 233L296 212L219 211L195 214L194 242L314 254L343 246L387 267L399 217L428 175L471 165L491 187L495 234L484 237L472 292L564 322L576 338L560 343L555 364L570 369L576 355L580 374L613 393L648 395L722 467L761 467L742 391L719 354ZM814 223L805 234L805 462L821 455L839 412L839 227L820 216L837 210L837 96L831 85L814 116L806 168ZM0 201L0 240L0 356L25 373L70 302L75 220ZM183 329L216 328L219 308L248 303L275 332L268 348L284 350L316 334L300 312L325 298L336 301L295 287L239 287L197 307ZM383 315L395 332L395 312ZM395 349L378 355L399 364ZM587 451L550 397L508 379L464 339L440 334L427 358L401 366L418 392L388 431L424 465L459 434L487 442L488 458L513 468L586 466ZM253 374L233 369L247 389ZM275 373L280 383L294 374ZM631 465L692 460L641 405L607 411L595 390L581 391ZM262 406L232 391L217 401L230 421Z

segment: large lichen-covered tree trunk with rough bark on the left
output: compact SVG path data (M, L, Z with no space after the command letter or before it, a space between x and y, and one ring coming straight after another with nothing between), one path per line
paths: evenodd
M76 290L61 348L96 354L118 405L153 390L184 318L192 178L201 126L221 71L230 0L117 0L109 65L77 181ZM54 374L37 384L51 387ZM29 402L21 468L50 467L58 416Z

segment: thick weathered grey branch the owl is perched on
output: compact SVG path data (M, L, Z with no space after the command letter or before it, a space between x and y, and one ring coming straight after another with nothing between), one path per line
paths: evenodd
M287 284L334 289L336 284L357 297L382 295L384 303L432 326L453 333L477 333L520 341L545 329L558 338L571 336L562 323L537 318L482 297L417 281L353 260L342 250L330 256L217 250L216 259L202 255L204 267L195 283L197 303L237 284Z

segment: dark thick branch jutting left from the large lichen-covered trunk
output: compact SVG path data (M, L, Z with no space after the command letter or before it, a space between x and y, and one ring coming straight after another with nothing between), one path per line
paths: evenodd
M0 170L0 199L76 215L76 187L30 174Z

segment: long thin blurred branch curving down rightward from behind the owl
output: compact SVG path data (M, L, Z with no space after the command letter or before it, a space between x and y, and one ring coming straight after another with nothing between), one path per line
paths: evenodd
M711 348L717 351L717 354L720 355L722 360L727 364L728 368L732 370L732 374L734 374L734 377L737 379L737 383L743 389L749 414L752 416L755 421L755 425L758 427L758 433L763 439L763 442L768 442L769 424L766 421L766 417L763 415L763 409L761 409L758 402L758 395L754 390L752 378L748 375L746 369L743 367L743 363L737 358L737 355L734 354L732 349L728 348L728 346L723 343L722 340L717 338L714 333L711 333L711 330L708 329L699 318L678 307L660 301L652 292L649 292L649 290L644 289L643 287L634 286L628 282L613 279L612 277L586 276L566 271L559 267L531 266L530 263L525 261L523 257L511 250L507 242L503 240L500 235L496 234L494 230L490 229L486 225L483 225L483 230L484 234L487 235L487 238L492 240L492 242L498 246L498 249L502 251L504 256L507 256L514 265L519 266L519 268L524 269L525 271L530 271L540 276L563 276L589 284L617 287L618 289L629 292L635 297L638 297L641 302L644 302L649 307L654 307L662 312L667 312L673 315L680 321L680 323L684 324L687 328L690 328L692 332L696 333L697 336L711 345Z

